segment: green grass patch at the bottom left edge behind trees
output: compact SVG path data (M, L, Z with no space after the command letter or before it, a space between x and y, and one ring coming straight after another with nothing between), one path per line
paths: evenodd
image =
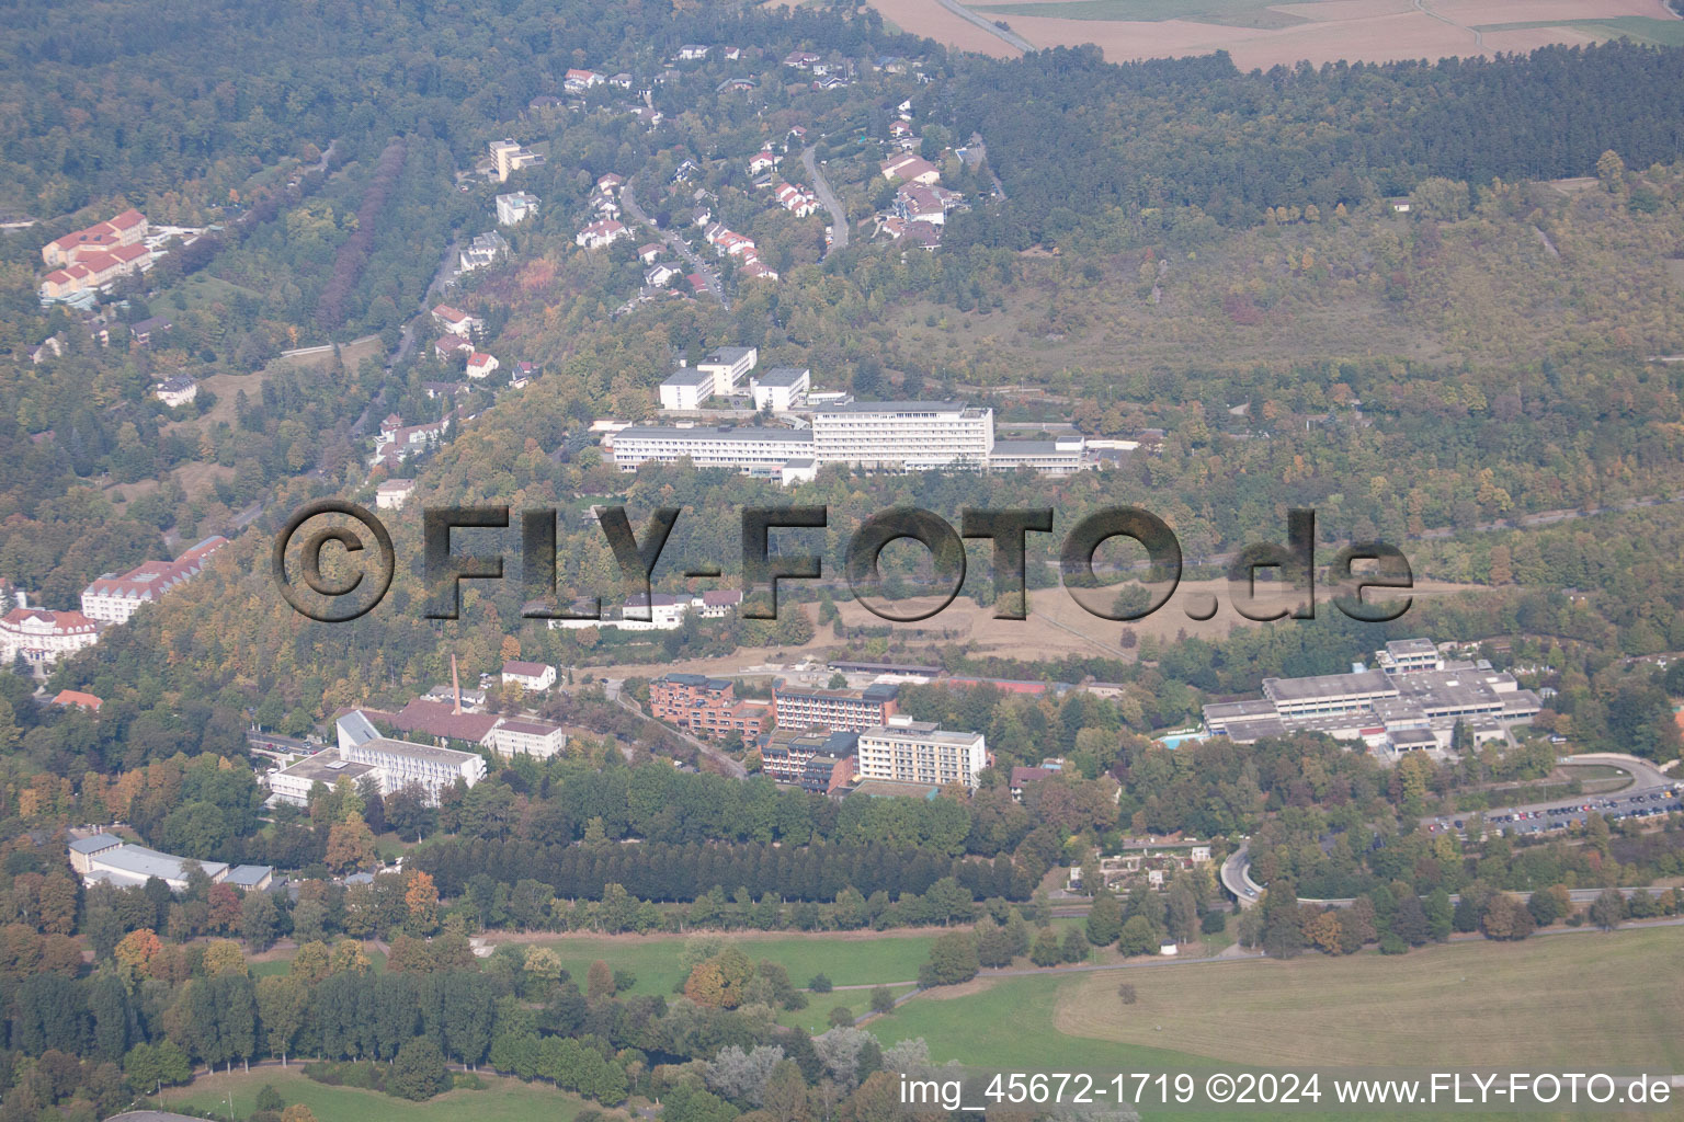
M232 1075L202 1075L189 1087L163 1092L162 1110L205 1119L227 1117L227 1097L234 1095L234 1117L244 1119L258 1102L258 1090L269 1083L288 1105L301 1102L317 1122L569 1122L584 1100L547 1083L522 1083L515 1078L482 1075L485 1090L453 1090L426 1102L394 1098L355 1087L327 1087L305 1078L301 1068L258 1068ZM145 1105L157 1105L148 1097Z

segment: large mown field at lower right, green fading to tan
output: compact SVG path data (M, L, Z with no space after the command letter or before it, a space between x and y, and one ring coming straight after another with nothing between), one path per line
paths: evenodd
M1460 942L972 982L872 1023L931 1056L1049 1070L1130 1063L1684 1068L1684 929ZM1120 982L1135 986L1123 1004ZM1563 1066L1568 1065L1568 1066ZM1578 1065L1578 1066L1573 1066Z

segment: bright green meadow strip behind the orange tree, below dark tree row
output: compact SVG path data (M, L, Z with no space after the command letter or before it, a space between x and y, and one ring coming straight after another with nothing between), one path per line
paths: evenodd
M876 935L869 932L823 932L818 935L739 932L726 939L738 944L743 954L756 962L770 959L783 966L790 972L790 981L800 987L807 986L807 979L813 974L825 974L835 986L909 982L918 977L918 967L930 957L930 944L936 937L933 934ZM522 942L542 944L556 950L561 955L561 964L581 984L584 972L596 959L606 961L616 971L637 974L633 992L640 994L670 994L672 987L685 976L685 969L679 962L679 952L685 942L684 935L559 935ZM855 1001L857 1011L864 1013L869 994L859 991Z

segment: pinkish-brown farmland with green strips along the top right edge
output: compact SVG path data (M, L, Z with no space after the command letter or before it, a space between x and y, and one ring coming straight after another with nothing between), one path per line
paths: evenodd
M879 5L896 25L965 50L1017 54L940 0ZM1310 62L1526 52L1630 37L1676 44L1684 20L1660 0L1014 0L970 3L1037 47L1095 44L1111 62L1228 50L1239 69Z

